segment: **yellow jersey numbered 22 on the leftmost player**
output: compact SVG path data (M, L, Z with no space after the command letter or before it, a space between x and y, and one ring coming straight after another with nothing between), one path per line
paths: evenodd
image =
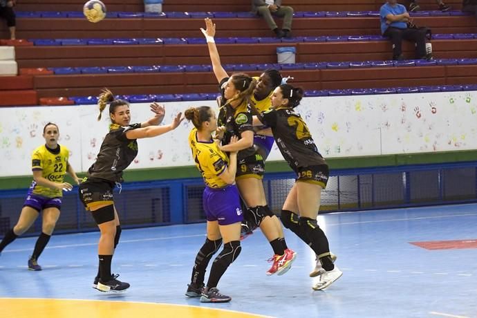
M70 151L64 146L59 147L59 153L53 153L43 144L32 153L32 171L41 170L41 176L53 181L63 183L64 175L68 169L68 157ZM38 185L35 180L30 185L32 194L46 196L47 198L57 198L63 196L62 190L51 189Z

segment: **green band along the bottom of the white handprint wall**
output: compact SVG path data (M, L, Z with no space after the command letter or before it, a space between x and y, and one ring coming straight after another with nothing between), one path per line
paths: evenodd
M328 162L328 165L330 165L330 169L393 167L400 165L429 165L436 163L477 161L477 150L329 158L326 161ZM265 168L267 172L291 171L290 167L288 167L285 161L266 162ZM79 173L78 176L84 176L84 174ZM200 174L198 173L195 166L167 167L157 169L131 169L124 171L124 180L127 182L181 178L200 178ZM30 185L31 181L31 176L1 177L0 190L24 189ZM71 182L71 178L66 177L66 182Z

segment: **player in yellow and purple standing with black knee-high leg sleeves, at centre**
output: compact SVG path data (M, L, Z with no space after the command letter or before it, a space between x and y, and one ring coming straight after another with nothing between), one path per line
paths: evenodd
M240 230L243 219L238 190L235 185L237 151L227 157L212 139L217 129L215 112L209 106L189 108L185 118L194 124L189 133L189 146L196 166L205 182L203 205L207 216L207 238L196 256L187 297L200 297L204 303L224 303L232 298L218 292L217 284L225 270L241 252ZM238 138L233 136L230 144ZM212 256L223 250L212 263L207 286L205 270Z

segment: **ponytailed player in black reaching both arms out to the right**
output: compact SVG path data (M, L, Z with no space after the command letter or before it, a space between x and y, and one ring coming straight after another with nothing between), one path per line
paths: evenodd
M146 122L130 124L131 113L129 103L124 100L115 100L113 93L104 90L100 95L98 105L100 115L109 104L109 117L111 125L101 144L97 159L88 169L88 174L79 186L79 198L87 210L91 211L97 226L100 228L101 237L98 243L98 256L100 265L95 277L93 288L102 292L122 292L129 288L129 283L118 281L118 274L111 274L111 260L116 245L119 243L121 226L118 212L114 206L113 188L120 187L122 171L126 169L138 154L136 139L149 138L162 135L176 129L182 113L178 113L173 122L168 125L158 126L164 119L165 109L159 104L151 104L154 116Z

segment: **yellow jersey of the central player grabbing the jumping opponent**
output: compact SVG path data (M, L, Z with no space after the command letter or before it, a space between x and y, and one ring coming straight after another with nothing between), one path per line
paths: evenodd
M198 141L197 129L194 128L189 133L189 146L192 150L192 158L204 178L205 185L211 188L227 186L220 175L227 169L229 158L218 148L216 142L212 139L210 142Z

